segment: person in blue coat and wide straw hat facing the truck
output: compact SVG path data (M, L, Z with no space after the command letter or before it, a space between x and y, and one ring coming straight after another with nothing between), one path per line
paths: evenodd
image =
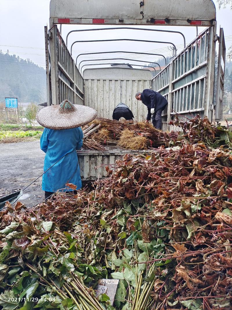
M91 122L96 116L94 109L68 100L37 112L37 122L45 127L40 139L41 150L46 153L42 179L45 200L59 189L73 191L74 188L69 188L67 183L74 184L76 190L81 188L76 153L83 143L83 132L79 126Z

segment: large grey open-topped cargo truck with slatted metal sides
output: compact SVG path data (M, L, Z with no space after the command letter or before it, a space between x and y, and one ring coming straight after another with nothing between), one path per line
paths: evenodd
M174 32L178 32L178 27L174 26L204 26L205 29L153 77L149 70L123 68L120 65L83 68L81 73L71 55L71 49L67 47L68 38L62 38L58 24L97 24L104 25L103 28L114 25L112 31L130 28L129 25L146 26L143 28L151 32L160 31L155 28L157 25L173 26ZM75 31L78 38L78 31ZM163 130L170 129L168 123L176 113L182 117L189 117L191 113L192 116L200 114L208 116L210 120L220 120L226 47L223 29L220 28L219 36L216 31L216 9L212 0L51 0L49 28L45 26L47 104L59 104L68 99L74 104L95 108L99 117L111 118L114 107L124 102L135 119L142 121L147 109L143 104L138 104L135 93L150 88L160 92L168 101L162 114ZM79 42L73 42L71 48ZM217 42L219 47L215 78ZM172 42L166 43L174 46ZM115 62L116 59L112 60L112 63ZM100 166L114 163L123 153L115 148L105 154L90 150L79 152L82 179L104 177L104 170ZM95 166L98 168L94 169Z

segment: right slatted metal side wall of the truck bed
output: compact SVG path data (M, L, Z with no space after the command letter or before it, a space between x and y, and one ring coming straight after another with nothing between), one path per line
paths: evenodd
M199 34L155 78L152 89L168 100L163 112L163 130L176 113L187 117L200 114L212 119L213 72L215 65L214 27Z

